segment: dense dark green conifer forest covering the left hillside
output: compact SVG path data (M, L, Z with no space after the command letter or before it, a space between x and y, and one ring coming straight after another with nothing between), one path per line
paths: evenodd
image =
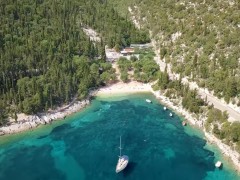
M114 81L105 45L149 42L103 0L4 0L0 17L0 125ZM101 41L91 42L83 28L95 29Z

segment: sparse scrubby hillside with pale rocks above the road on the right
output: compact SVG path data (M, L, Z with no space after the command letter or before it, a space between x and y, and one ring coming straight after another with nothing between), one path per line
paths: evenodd
M174 72L240 105L239 1L110 1L122 14L131 7Z

